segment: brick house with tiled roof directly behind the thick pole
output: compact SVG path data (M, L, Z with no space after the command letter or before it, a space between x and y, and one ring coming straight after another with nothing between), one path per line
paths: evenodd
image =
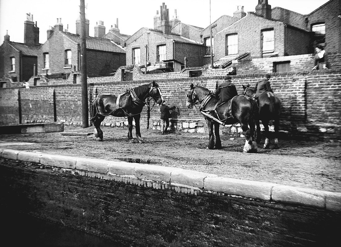
M86 49L89 77L108 76L125 65L125 50L108 39L87 36ZM80 36L63 31L61 22L57 22L53 30L48 30L48 39L39 50L38 74L49 76L79 70Z

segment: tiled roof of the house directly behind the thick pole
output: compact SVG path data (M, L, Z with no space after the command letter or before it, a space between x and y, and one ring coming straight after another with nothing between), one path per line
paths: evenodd
M63 35L70 38L75 43L80 43L80 36L73 33L62 32ZM125 53L125 50L107 38L86 37L86 48L91 50L100 50L116 53Z

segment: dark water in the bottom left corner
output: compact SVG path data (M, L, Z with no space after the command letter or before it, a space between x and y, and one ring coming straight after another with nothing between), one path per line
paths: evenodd
M2 211L2 246L125 247L120 243L29 215Z

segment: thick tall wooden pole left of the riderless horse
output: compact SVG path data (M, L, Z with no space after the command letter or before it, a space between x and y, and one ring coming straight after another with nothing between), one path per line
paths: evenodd
M85 4L80 0L80 77L82 94L82 127L89 127L88 82L86 71Z

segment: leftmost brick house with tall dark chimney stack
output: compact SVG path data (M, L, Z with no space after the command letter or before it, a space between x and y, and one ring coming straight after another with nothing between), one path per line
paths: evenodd
M39 28L33 22L33 15L26 14L24 22L24 43L10 41L10 35L4 36L0 46L0 86L17 86L18 82L28 81L36 73L38 57ZM22 86L22 83L21 83Z

